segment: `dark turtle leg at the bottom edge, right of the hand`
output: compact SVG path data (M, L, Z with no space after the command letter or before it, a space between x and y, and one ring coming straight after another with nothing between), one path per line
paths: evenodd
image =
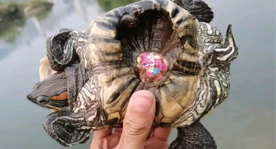
M216 143L206 128L196 120L187 127L177 127L177 138L168 149L216 149Z

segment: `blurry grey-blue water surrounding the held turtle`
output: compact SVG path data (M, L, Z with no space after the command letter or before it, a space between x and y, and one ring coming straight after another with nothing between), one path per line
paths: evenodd
M61 149L42 128L49 110L26 99L39 81L46 38L61 28L86 30L100 14L135 0L0 0L0 148ZM216 25L239 47L229 97L202 119L222 149L275 148L275 0L206 0ZM172 131L170 142L176 137ZM88 149L85 144L73 148Z

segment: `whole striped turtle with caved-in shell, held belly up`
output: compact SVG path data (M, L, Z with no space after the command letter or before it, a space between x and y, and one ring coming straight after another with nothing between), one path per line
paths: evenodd
M63 29L47 40L49 64L57 71L50 78L66 76L68 70L74 76L79 67L85 73L78 76L86 76L68 92L74 96L68 109L44 119L51 137L72 146L84 143L93 130L121 127L129 97L146 89L156 97L154 127L177 127L178 137L169 148L216 148L199 120L229 93L229 67L238 54L231 25L223 42L220 31L208 23L213 16L208 5L173 2L144 0L119 7L95 19L87 38ZM190 6L204 12L200 17L183 9L199 2L201 9ZM78 77L69 80L74 79Z

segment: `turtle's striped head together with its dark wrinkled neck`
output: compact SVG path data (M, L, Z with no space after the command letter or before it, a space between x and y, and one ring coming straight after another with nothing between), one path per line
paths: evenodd
M64 71L57 72L37 82L27 98L42 107L55 110L70 110L76 102L78 92L89 78L90 72L81 64L72 64ZM68 98L57 100L53 97L66 93Z

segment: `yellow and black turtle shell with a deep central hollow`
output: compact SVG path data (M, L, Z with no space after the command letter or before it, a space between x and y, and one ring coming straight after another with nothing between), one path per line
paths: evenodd
M93 78L87 87L97 86L95 98L103 103L108 125L122 122L127 102L137 90L154 93L156 125L172 124L193 106L202 68L198 51L192 48L197 44L196 30L181 27L196 28L197 23L171 1L141 1L91 23L84 65Z

